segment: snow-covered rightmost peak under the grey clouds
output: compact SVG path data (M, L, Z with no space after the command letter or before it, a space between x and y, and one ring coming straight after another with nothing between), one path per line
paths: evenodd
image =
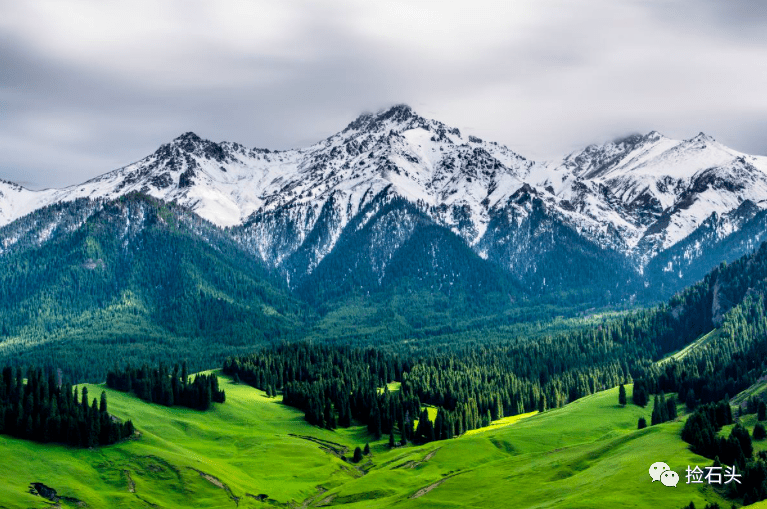
M703 133L678 141L653 131L535 165L525 180L549 189L574 224L593 220L613 227L610 247L644 265L714 213L726 214L746 200L764 208L765 170L767 158Z

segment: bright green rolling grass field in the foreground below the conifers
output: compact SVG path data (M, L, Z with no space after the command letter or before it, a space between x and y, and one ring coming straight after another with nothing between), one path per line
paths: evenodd
M227 402L208 412L107 390L110 411L133 418L141 433L115 446L78 450L0 435L0 507L49 507L29 493L32 482L70 497L62 507L681 509L723 502L684 483L687 465L710 461L680 440L682 422L636 430L652 408L620 407L617 389L449 441L389 450L384 437L353 465L339 456L370 440L363 427L321 430L279 398L226 378L224 388ZM88 390L98 396L103 388ZM656 461L680 474L676 488L650 481Z

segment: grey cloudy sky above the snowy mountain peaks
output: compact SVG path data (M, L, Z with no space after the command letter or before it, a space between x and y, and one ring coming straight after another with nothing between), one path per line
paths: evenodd
M767 154L767 3L0 0L0 178L32 188L395 103L533 159L653 129Z

